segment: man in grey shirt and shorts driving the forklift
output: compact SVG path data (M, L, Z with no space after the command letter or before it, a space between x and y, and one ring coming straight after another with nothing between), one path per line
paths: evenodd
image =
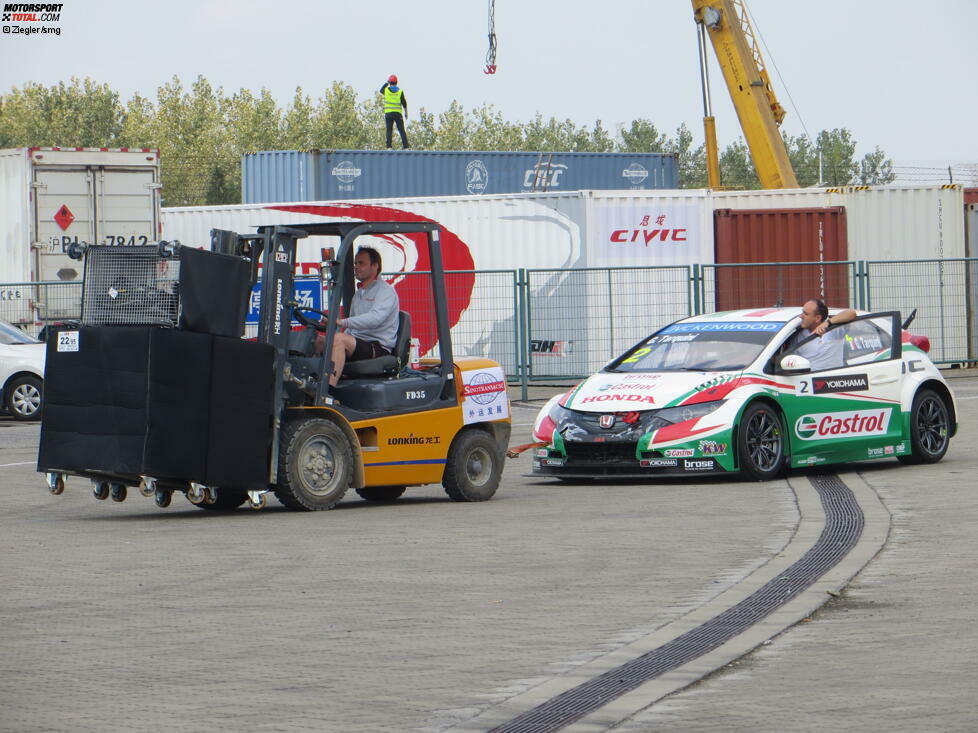
M393 353L401 306L394 288L380 279L380 270L380 252L372 247L360 247L353 260L353 276L359 283L353 295L350 316L336 322L344 332L337 332L333 340L331 387L336 386L346 362ZM321 352L322 342L318 346Z

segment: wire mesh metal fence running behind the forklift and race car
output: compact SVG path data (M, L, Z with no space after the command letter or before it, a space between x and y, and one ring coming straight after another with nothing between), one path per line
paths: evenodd
M413 336L435 356L427 274L387 276L401 283ZM930 338L934 362L978 362L976 258L453 271L445 286L455 354L492 358L524 387L583 378L679 318L813 297L904 317L916 308L911 330ZM0 285L0 320L30 333L80 314L81 283Z

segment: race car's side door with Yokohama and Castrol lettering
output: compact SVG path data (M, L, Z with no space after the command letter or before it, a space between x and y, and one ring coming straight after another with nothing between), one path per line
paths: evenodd
M810 359L810 371L782 372L795 385L794 394L782 399L792 466L906 451L899 318L899 313L873 313L835 326L822 337L822 353Z

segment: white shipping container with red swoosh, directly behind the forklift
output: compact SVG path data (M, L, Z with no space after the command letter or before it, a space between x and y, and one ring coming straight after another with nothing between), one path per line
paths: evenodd
M206 247L211 229L251 234L260 225L323 220L432 220L443 227L441 245L446 270L569 270L586 264L585 208L579 192L186 207L163 210L163 234L165 239L178 240L183 245ZM336 245L335 241L323 240L300 240L297 274L319 271L320 249ZM417 269L417 250L409 236L365 236L358 242L377 248L387 273ZM397 283L395 277L395 287ZM461 311L458 321L452 324L455 352L492 354L512 373L516 363L513 277L480 274L466 287L470 288L468 292L453 289L449 293ZM575 297L581 301L580 306L586 293L576 293ZM580 327L583 332L583 324Z

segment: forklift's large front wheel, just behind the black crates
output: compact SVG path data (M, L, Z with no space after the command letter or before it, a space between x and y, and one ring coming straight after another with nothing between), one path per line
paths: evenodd
M353 449L330 420L296 420L282 430L275 496L292 509L322 511L336 506L353 475Z

